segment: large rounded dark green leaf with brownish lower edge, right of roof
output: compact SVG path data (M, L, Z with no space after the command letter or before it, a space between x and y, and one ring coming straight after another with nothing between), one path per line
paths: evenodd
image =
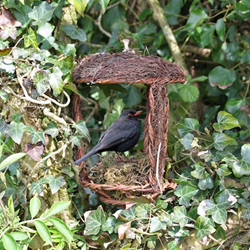
M210 71L208 79L211 86L218 86L221 89L226 89L236 80L236 74L234 70L217 66Z

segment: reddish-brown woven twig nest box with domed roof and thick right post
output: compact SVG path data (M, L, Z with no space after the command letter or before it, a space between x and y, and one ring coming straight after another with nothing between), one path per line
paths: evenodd
M107 190L138 191L157 197L165 189L171 188L169 183L163 183L169 113L167 85L184 83L184 69L157 56L142 56L130 52L101 53L83 58L73 72L73 81L76 84L142 83L148 86L144 127L144 153L150 161L148 182L138 186L96 184L89 181L84 171L81 184L99 192L103 201L112 204L120 202L112 200L106 193Z

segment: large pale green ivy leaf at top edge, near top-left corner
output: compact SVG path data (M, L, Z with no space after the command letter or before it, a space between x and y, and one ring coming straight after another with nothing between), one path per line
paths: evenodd
M46 22L50 21L56 7L46 1L41 2L38 6L35 6L28 16L30 19L35 20L32 24L37 26L43 26Z

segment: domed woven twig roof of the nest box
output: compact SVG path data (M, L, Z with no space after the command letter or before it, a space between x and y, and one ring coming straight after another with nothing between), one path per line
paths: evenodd
M85 56L73 71L74 83L184 83L186 72L178 64L157 56L130 52Z

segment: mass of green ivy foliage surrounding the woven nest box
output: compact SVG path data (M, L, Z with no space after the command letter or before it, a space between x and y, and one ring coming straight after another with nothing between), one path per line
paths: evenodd
M244 249L249 242L243 245L237 238L233 246L228 242L232 235L249 230L250 219L250 38L245 29L249 1L159 2L192 73L185 85L169 85L166 177L178 186L155 203L138 203L114 214L101 206L87 211L84 234L103 248L157 249L163 244L177 250L194 235L198 241L193 244L200 240L207 247L211 243L211 249L218 242L216 249ZM0 189L5 192L0 197L7 205L0 210L0 249L31 247L38 236L49 249L67 249L76 240L79 249L88 249L79 236L83 228L69 228L54 217L69 210L69 202L59 201L45 211L40 199L66 187L78 208L74 217L89 210L89 204L81 203L72 155L67 156L70 145L81 146L82 139L94 145L124 108L145 110L146 89L133 84L76 88L71 79L75 57L122 51L121 40L129 38L136 52L173 60L170 45L152 10L144 5L131 8L129 1L4 0L3 4L22 26L1 24L0 104L8 106L13 97L26 104L20 107L22 112L18 103L1 109ZM80 14L78 19L71 5ZM83 120L77 122L67 117L70 111L61 115L72 92L83 99ZM30 112L35 105L39 108ZM36 117L39 109L44 117ZM37 127L33 120L42 125ZM26 142L31 144L27 152L20 152ZM56 153L60 149L63 153ZM29 176L38 175L37 179L23 182L20 160L34 167ZM27 186L31 196L36 194L31 199L23 192ZM92 193L90 197L88 202L95 199Z

